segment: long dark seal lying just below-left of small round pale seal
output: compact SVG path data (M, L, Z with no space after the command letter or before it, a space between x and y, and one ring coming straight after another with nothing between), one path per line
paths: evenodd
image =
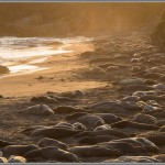
M50 128L43 130L36 130L32 133L33 136L45 136L51 139L64 139L78 134L79 130L66 129L66 128Z

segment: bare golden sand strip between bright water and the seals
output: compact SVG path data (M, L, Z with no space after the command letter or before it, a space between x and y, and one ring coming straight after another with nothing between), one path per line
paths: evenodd
M47 91L73 91L75 86L81 90L86 90L106 85L105 82L82 81L75 78L74 74L72 74L72 72L76 69L87 67L86 64L79 61L78 55L84 52L94 51L91 42L78 42L67 46L62 45L62 47L65 47L65 51L73 52L51 55L47 56L45 61L35 64L38 68L46 69L31 73L18 73L0 78L0 94L6 97L26 97L42 95ZM43 77L43 79L37 79L40 77Z

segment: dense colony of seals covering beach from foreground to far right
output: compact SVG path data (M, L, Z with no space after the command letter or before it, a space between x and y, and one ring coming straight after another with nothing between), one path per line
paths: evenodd
M1 96L0 162L165 162L165 53L144 30L88 44L95 48L76 56L86 67L72 69L72 81L106 86Z

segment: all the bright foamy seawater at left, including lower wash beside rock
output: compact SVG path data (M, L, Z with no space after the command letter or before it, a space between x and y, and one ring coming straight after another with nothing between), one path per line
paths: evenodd
M50 56L73 52L65 50L70 44L91 40L82 36L73 38L0 37L0 65L9 67L11 74L46 69L36 64Z

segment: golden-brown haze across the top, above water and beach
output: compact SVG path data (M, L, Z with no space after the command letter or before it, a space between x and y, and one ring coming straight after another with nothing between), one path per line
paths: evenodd
M139 29L164 8L161 2L0 3L0 35L66 37Z

